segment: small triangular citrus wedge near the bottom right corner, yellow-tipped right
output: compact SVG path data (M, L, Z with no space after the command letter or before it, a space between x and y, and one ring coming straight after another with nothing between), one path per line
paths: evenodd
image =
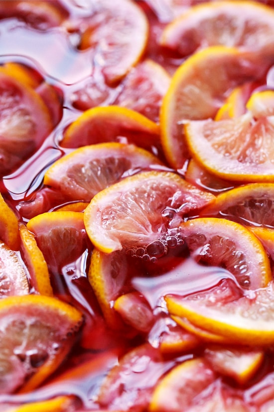
M260 350L221 346L206 348L204 356L215 372L233 378L240 385L256 374L264 360L264 352Z

